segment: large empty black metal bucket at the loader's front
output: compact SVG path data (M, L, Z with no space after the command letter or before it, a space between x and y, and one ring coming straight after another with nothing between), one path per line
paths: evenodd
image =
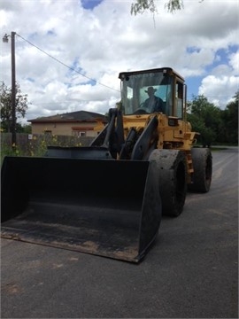
M158 233L155 163L5 157L2 237L140 261Z

